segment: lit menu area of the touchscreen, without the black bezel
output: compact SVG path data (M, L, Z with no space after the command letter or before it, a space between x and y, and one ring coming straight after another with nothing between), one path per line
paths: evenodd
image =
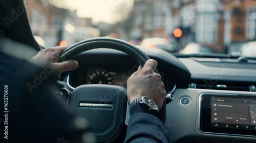
M211 96L211 127L256 130L256 99Z

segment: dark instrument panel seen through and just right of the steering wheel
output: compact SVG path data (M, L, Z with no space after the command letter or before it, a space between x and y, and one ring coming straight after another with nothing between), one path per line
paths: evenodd
M139 67L129 55L110 49L84 52L77 55L74 60L78 61L78 68L65 73L70 89L84 84L111 84L126 88L127 79ZM176 74L164 66L158 67L158 70L165 90L172 91L176 86Z

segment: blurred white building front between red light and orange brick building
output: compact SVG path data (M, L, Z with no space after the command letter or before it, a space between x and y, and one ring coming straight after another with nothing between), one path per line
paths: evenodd
M217 52L222 53L223 29L220 28L219 13L222 11L221 3L216 1L196 1L196 42L207 45ZM220 21L221 22L221 21Z

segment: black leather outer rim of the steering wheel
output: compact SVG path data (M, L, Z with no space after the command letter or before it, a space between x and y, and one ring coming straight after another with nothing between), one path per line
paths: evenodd
M121 52L124 52L131 57L133 57L140 65L144 65L146 60L150 59L143 51L141 51L138 47L119 39L114 38L92 38L88 40L83 40L78 42L63 51L60 56L58 62L66 61L72 59L74 56L93 49L114 49ZM159 74L156 69L155 72ZM75 89L74 89L75 90ZM166 118L166 104L165 101L163 103L162 109L160 110L159 116L163 125L165 124Z

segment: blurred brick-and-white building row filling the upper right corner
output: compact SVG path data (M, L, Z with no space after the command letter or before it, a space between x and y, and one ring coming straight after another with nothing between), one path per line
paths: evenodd
M173 19L183 31L180 48L201 43L218 53L237 51L256 40L256 2L245 0L172 0Z

